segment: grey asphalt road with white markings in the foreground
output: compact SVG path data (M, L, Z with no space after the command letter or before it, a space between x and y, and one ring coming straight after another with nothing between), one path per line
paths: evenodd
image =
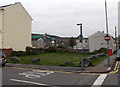
M2 85L19 85L26 87L33 85L51 87L118 87L120 71L112 74L80 74L28 68L4 67L2 69ZM99 85L99 86L98 86Z

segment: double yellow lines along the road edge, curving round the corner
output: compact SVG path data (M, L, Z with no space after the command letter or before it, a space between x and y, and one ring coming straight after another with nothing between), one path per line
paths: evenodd
M14 68L14 69L24 69L24 70L40 70L40 69L32 69L32 68L19 68L19 67L5 67L5 68ZM58 72L58 73L66 73L66 74L82 74L82 75L101 75L101 74L115 74L118 72L120 68L120 62L117 61L115 64L115 68L111 72L106 72L106 73L75 73L75 72L65 72L65 71L52 71L52 70L41 70L41 71L52 71L52 72Z

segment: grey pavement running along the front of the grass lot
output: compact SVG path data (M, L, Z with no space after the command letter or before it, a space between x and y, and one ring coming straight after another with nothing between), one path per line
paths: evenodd
M44 65L30 65L30 64L13 64L7 63L6 67L17 67L17 68L31 68L40 70L51 70L51 71L63 71L63 72L74 72L74 73L107 73L114 69L116 56L110 56L110 67L108 66L108 60L104 60L97 66L84 67L64 67L64 66L44 66Z

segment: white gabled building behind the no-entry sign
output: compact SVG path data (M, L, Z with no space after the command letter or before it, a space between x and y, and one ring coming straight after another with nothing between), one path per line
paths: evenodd
M99 50L100 48L107 48L107 41L104 40L104 36L106 36L105 33L98 31L88 37L89 52ZM111 36L111 40L109 41L109 48L112 49L112 51L114 51L115 47L115 40Z

